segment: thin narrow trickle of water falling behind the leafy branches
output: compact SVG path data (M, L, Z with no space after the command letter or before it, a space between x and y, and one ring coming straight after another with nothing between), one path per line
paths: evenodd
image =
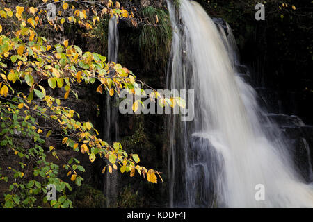
M118 22L115 15L111 17L108 28L108 62L118 62ZM111 97L109 92L104 95L104 140L108 143L118 140L118 98ZM109 162L108 162L109 163ZM106 171L104 194L106 195L106 207L115 204L117 196L117 172Z

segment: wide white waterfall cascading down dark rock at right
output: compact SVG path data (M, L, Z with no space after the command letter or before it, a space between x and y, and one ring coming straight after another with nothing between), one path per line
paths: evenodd
M296 174L280 130L239 74L230 27L215 24L194 1L176 8L168 0L168 9L168 87L195 92L193 121L170 117L170 207L313 207L312 187Z

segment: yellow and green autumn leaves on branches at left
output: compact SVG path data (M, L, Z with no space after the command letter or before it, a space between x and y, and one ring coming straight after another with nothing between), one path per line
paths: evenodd
M134 23L134 14L111 0L95 5L88 1L86 5L56 1L56 14L62 17L51 19L47 5L53 2L33 1L31 6L10 3L0 7L0 148L13 152L20 160L15 168L1 164L0 180L8 182L3 207L40 207L42 201L51 207L72 207L66 195L72 187L59 175L66 171L67 177L80 186L83 178L79 175L85 169L79 160L64 158L54 146L48 146L49 153L63 161L63 165L48 161L45 141L49 137L67 149L88 155L90 162L96 158L107 160L109 164L102 173L118 170L134 176L137 172L152 183L161 178L158 171L138 165L138 155L128 154L118 142L103 141L92 123L79 121L75 110L62 105L71 94L78 98L73 89L82 84L97 84L97 92L109 91L110 96L122 89L134 92L138 88L136 76L99 53L83 52L67 39L55 44L49 37L40 35L47 27L65 32L64 24L88 31L106 15ZM28 90L22 92L21 85ZM47 85L63 92L63 98L49 95L51 89ZM4 163L3 157L0 162ZM33 176L26 178L24 172L29 166L33 166ZM47 200L48 184L56 185L61 194L57 200Z

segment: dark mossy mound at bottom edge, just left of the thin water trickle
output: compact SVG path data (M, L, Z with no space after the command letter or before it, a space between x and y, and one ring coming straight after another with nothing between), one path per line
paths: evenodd
M69 197L73 200L74 208L100 208L105 201L102 191L90 185L81 185Z

